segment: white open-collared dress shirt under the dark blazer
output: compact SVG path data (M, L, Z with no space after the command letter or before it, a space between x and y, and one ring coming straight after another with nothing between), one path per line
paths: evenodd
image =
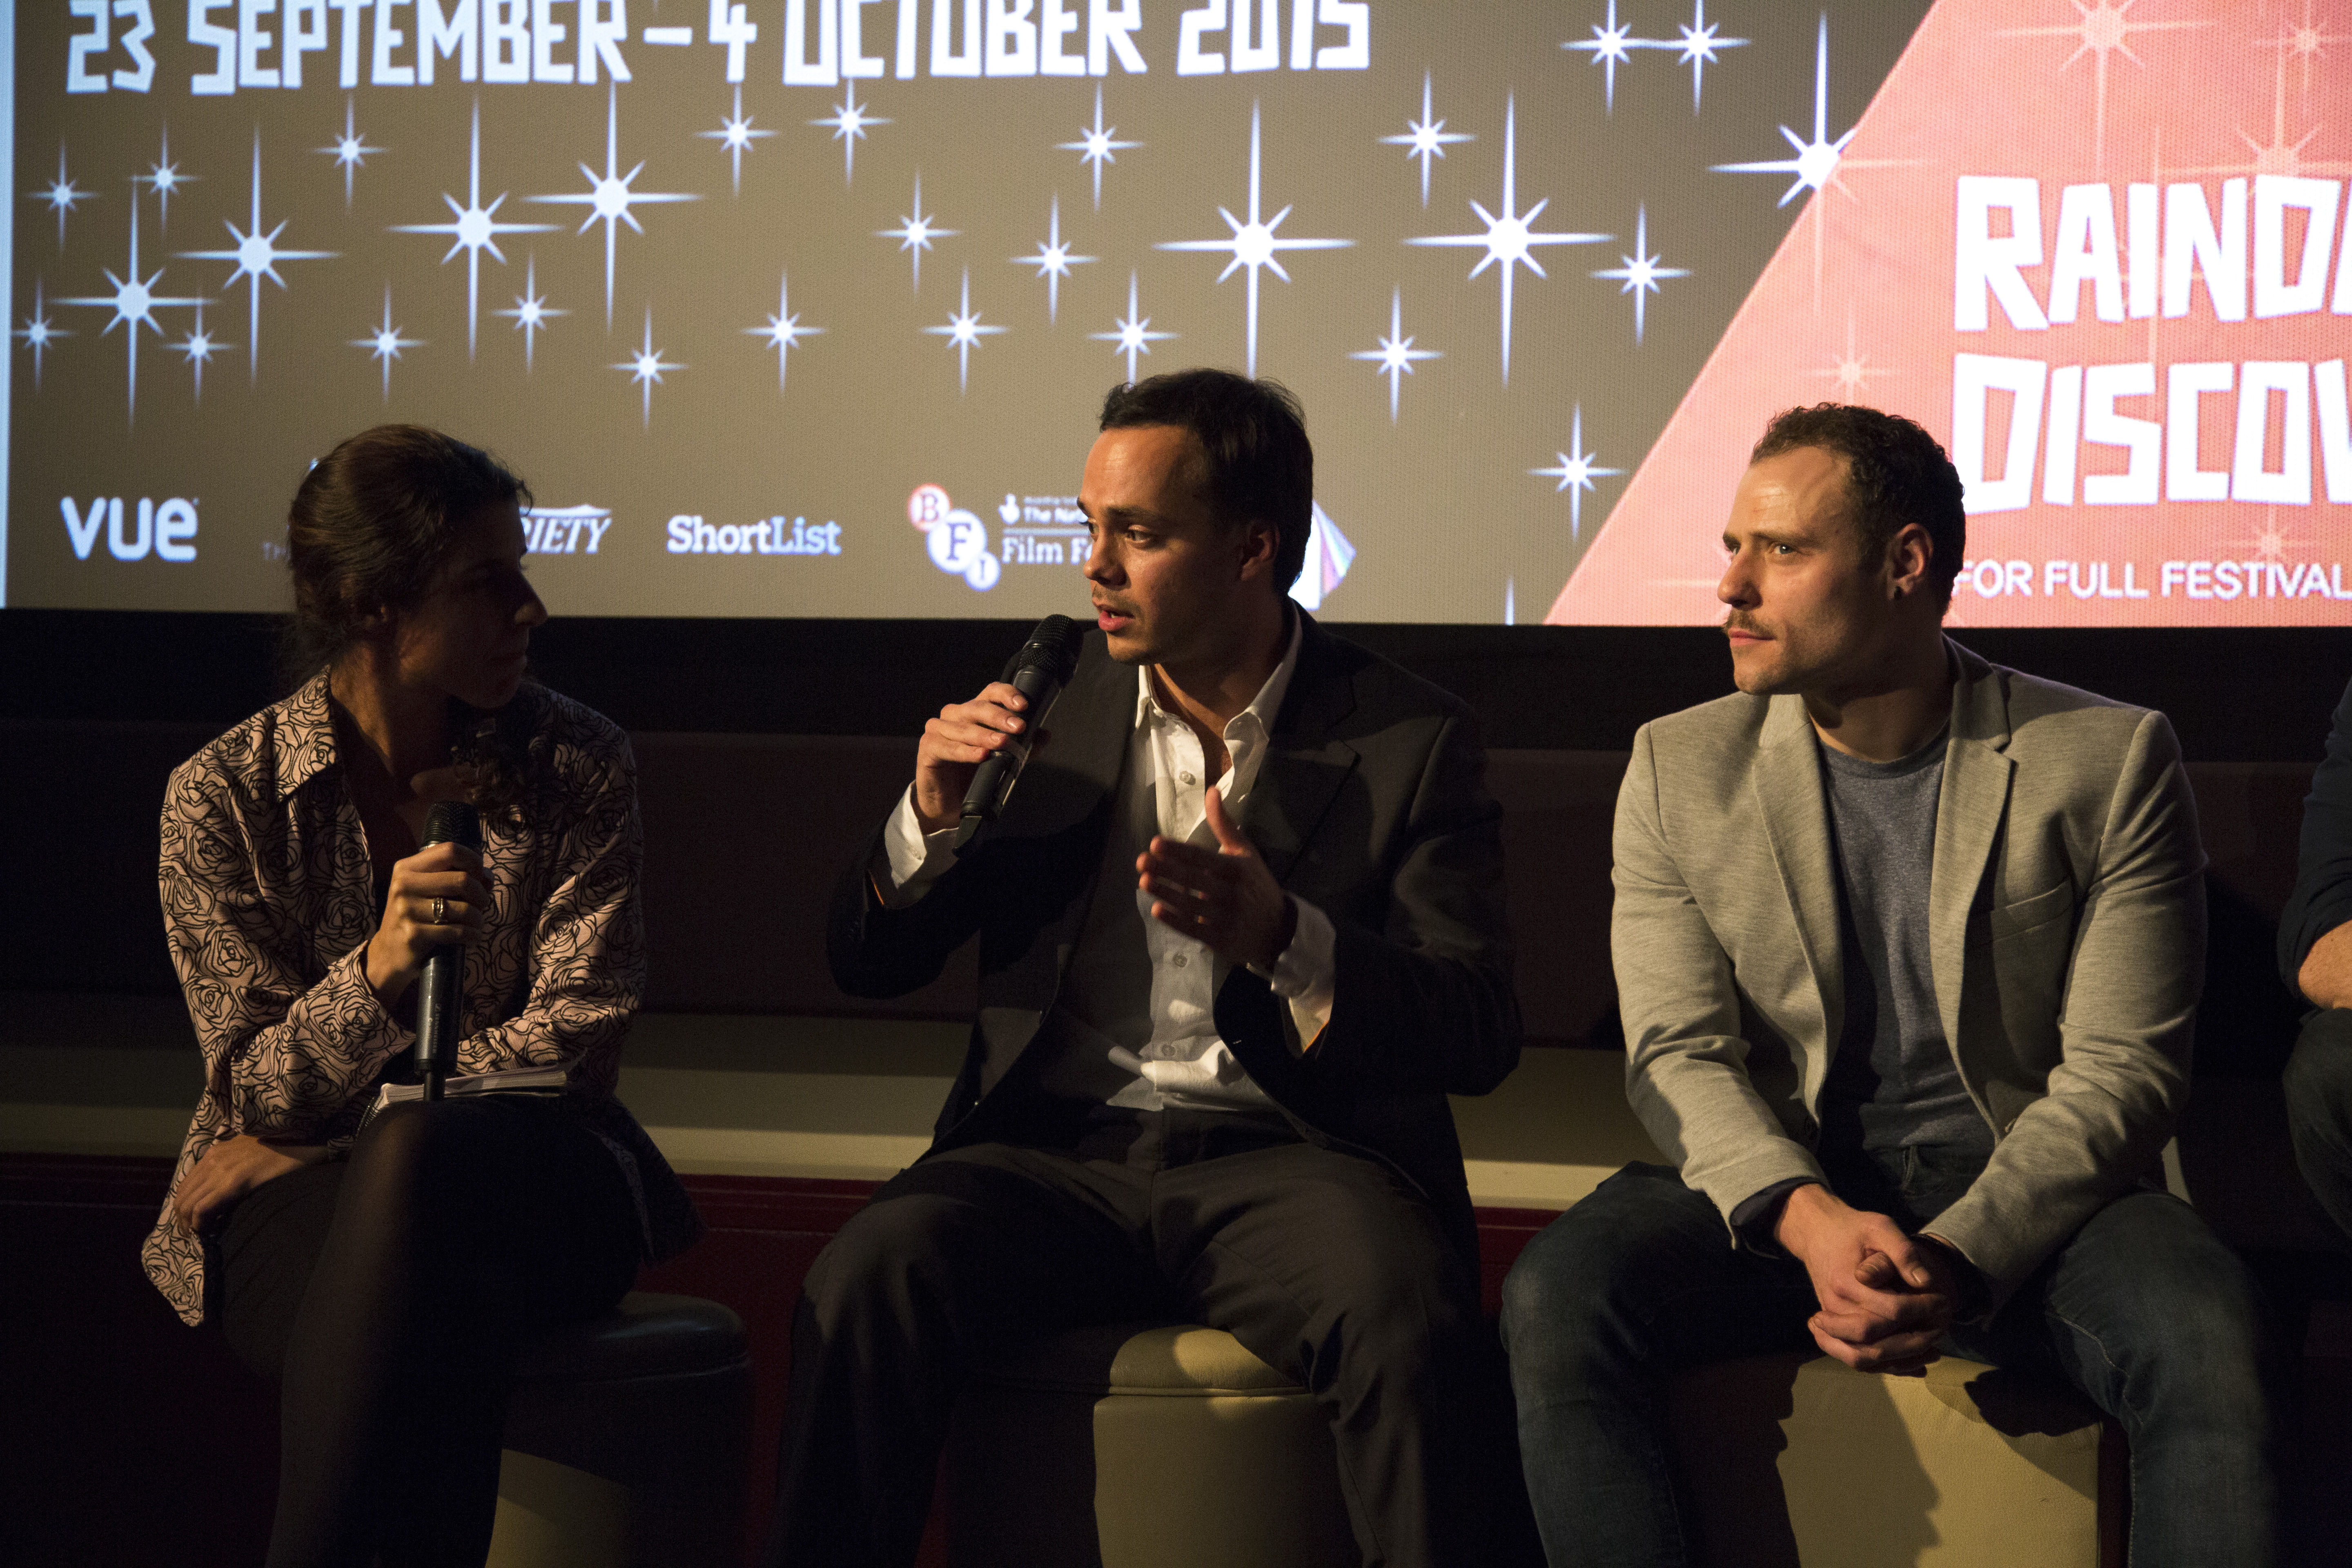
M1249 792L1265 764L1265 748L1272 722L1282 712L1282 696L1291 686L1298 668L1301 623L1291 616L1291 644L1282 663L1258 686L1249 708L1225 724L1225 776L1216 780L1225 813L1242 818ZM1216 849L1216 832L1209 827L1204 778L1204 750L1200 736L1183 715L1160 703L1157 679L1150 665L1136 670L1136 719L1127 743L1124 804L1136 804L1136 790L1150 790L1152 816L1160 837ZM889 825L882 830L889 886L882 903L903 910L922 898L929 886L955 865L955 827L924 832L915 813L915 788L901 797ZM1105 889L1108 893L1108 889ZM1258 1088L1237 1060L1232 1048L1216 1034L1216 987L1225 980L1228 964L1204 943L1174 931L1152 919L1152 898L1131 889L1136 914L1143 919L1143 943L1152 961L1152 1037L1141 1056L1112 1048L1110 1058L1134 1072L1110 1105L1129 1110L1265 1110L1272 1100ZM1291 1023L1301 1041L1312 1041L1331 1020L1331 971L1334 931L1331 917L1305 898L1291 898L1298 910L1298 929L1291 945L1282 950L1270 971L1263 971L1275 994L1291 1009Z

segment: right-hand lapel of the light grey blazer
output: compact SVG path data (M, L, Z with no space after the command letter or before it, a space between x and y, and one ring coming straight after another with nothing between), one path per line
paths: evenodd
M1969 910L1985 882L1985 865L2009 813L2009 696L1992 665L1952 644L1959 679L1952 689L1952 743L1943 757L1936 799L1936 863L1929 877L1929 957L1936 969L1936 1013L1943 1037L1959 1053L1959 994L1969 954Z

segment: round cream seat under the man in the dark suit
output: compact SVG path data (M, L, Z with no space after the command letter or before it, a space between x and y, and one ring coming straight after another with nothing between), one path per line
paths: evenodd
M1223 1331L1115 1324L974 1375L948 1441L955 1568L1359 1561L1315 1399Z

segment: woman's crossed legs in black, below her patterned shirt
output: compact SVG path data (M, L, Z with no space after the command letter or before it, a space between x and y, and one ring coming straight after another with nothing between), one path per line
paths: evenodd
M546 1100L395 1105L249 1192L214 1314L280 1385L268 1568L480 1566L515 1345L612 1307L637 1253L619 1164Z

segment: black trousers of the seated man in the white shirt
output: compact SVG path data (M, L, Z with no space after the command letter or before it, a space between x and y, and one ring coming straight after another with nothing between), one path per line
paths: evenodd
M1475 1439L1501 1380L1435 1211L1279 1117L1155 1112L1077 1150L934 1154L826 1246L764 1563L915 1561L964 1368L1134 1316L1223 1328L1315 1392L1367 1563L1489 1561L1482 1488L1510 1460Z

